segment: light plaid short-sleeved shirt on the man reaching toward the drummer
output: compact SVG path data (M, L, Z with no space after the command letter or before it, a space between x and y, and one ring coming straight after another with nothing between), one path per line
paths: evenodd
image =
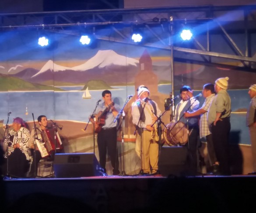
M208 96L204 100L204 103L203 103L203 106L201 107L201 109L208 112L209 107L210 107L210 103L214 99L214 96L215 96L215 94L211 94L210 96ZM207 123L207 112L201 114L201 117L200 117L200 138L211 134L210 129L209 129L209 125Z

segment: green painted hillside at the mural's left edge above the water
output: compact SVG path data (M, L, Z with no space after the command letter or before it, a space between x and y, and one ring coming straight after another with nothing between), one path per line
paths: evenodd
M0 91L40 91L40 90L54 90L65 91L53 86L44 86L38 83L26 82L17 77L11 77L0 74Z

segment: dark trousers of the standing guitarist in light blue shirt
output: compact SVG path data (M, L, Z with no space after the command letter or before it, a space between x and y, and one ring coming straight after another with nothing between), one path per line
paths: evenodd
M102 129L98 133L97 143L98 143L98 152L100 165L106 172L106 155L108 153L113 167L113 174L119 174L119 161L118 161L118 152L117 152L117 131L116 127L110 129Z

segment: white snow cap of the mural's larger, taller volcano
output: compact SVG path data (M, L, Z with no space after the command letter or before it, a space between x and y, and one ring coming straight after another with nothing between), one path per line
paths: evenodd
M84 64L74 66L71 69L72 70L88 70L93 69L95 67L98 68L104 68L108 67L110 65L119 65L119 66L127 66L127 65L133 65L137 66L139 63L138 60L133 58L128 58L123 55L118 55L113 50L99 50L95 56L90 58L87 62Z

